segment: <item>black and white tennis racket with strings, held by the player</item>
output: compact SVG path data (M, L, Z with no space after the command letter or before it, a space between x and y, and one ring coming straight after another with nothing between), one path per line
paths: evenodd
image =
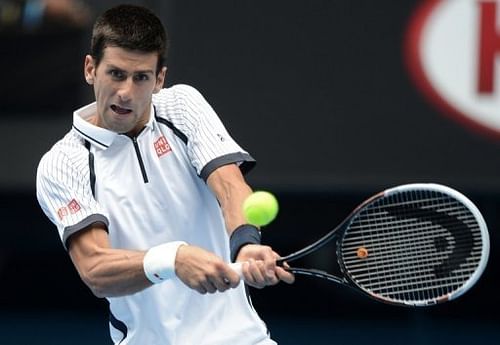
M277 264L290 264L334 239L340 275L287 270L415 307L464 294L483 273L489 255L488 230L477 207L438 184L407 184L376 194L335 229ZM233 265L241 276L241 263Z

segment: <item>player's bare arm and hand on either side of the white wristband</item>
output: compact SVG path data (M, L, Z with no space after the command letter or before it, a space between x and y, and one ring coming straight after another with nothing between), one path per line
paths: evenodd
M73 264L97 297L129 295L152 285L144 271L147 252L111 248L104 224L94 223L68 242ZM202 294L223 292L239 283L238 275L219 257L190 245L177 249L175 274Z

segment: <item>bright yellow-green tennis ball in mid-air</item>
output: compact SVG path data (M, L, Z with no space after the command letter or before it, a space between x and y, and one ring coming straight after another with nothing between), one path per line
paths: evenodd
M278 200L269 192L250 194L243 203L243 214L248 223L263 226L271 223L278 214Z

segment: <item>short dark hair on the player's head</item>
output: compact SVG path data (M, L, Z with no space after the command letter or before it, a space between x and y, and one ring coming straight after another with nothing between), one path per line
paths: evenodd
M156 73L159 73L167 55L167 32L160 19L149 9L119 5L104 12L94 24L90 55L96 66L101 62L106 47L157 52Z

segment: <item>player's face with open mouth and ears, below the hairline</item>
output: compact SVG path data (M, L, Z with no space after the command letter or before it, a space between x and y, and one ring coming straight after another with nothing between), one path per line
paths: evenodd
M85 57L85 78L94 85L93 123L116 133L136 135L148 122L151 98L163 87L166 68L156 75L158 54L106 47L101 62Z

